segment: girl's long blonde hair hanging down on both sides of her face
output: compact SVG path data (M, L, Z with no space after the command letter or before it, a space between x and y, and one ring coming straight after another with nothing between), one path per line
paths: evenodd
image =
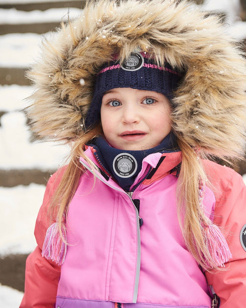
M85 144L100 135L102 135L102 129L101 125L98 125L73 143L70 162L51 200L50 213L53 217L54 214L57 215L56 220L63 241L65 241L62 233L64 218L66 218L69 204L77 189L79 178L85 172L79 164L79 158L82 156L94 170L95 165L84 154ZM208 226L209 220L201 206L199 181L205 183L207 182L207 177L203 170L201 159L193 147L182 140L181 136L177 139L182 152L182 164L177 185L177 211L184 241L190 253L203 269L207 271L210 269L221 270L221 267L216 265L206 245L204 230Z

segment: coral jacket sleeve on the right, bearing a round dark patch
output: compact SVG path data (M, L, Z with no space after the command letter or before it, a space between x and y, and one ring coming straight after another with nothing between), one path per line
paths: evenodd
M218 173L220 177L216 178ZM214 222L228 242L232 259L224 271L206 273L206 277L220 298L220 308L242 308L246 303L246 247L240 238L246 239L242 232L246 225L246 185L241 175L227 167L216 166L214 174Z

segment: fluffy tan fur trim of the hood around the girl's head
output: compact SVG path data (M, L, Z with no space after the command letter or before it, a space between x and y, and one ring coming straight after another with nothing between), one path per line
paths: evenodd
M243 153L246 62L225 28L186 0L98 1L43 41L28 75L28 108L36 137L70 140L84 134L99 68L119 54L148 52L185 70L175 93L175 134L208 154Z

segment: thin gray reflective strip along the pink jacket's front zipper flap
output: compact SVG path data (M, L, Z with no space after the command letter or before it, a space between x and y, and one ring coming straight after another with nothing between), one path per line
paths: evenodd
M80 160L80 163L89 171L92 171L92 168L90 168L86 163L82 162ZM93 173L94 174L94 173ZM130 200L131 200L131 196L132 193L130 193L130 196L123 190L116 188L112 185L110 185L108 182L106 182L102 177L100 177L98 174L95 173L95 176L102 181L104 184L108 185L109 187L111 187L112 189L115 189L117 191L120 191L121 193L127 195ZM134 205L133 201L131 200L131 203ZM138 251L137 251L137 266L136 266L136 278L135 278L135 284L134 284L134 292L133 292L133 299L132 299L132 303L136 303L137 302L137 296L138 296L138 284L139 284L139 275L140 275L140 263L141 263L141 240L140 240L140 226L139 226L139 217L138 217L138 210L136 208L136 206L134 205L135 208L135 212L136 212L136 225L137 225L137 238L138 238Z

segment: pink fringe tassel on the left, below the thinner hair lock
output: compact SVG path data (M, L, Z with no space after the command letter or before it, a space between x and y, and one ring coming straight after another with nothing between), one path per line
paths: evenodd
M66 240L66 231L62 227L62 235ZM45 240L42 248L42 256L48 260L62 265L66 256L66 243L62 240L59 232L58 223L52 224L46 232Z

